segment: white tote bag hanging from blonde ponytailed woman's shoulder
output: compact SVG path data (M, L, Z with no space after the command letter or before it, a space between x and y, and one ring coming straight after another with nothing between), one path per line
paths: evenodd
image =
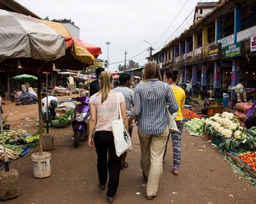
M116 109L116 120L112 121L112 131L114 135L114 142L116 148L116 155L119 157L126 151L132 150L132 140L129 133L126 131L123 125L123 119L120 108L119 93L117 95L117 109ZM118 119L118 115L120 119Z

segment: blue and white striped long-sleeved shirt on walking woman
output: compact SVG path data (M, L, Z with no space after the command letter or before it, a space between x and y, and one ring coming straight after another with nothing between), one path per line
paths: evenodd
M166 104L170 113L178 111L179 106L172 88L154 79L141 82L135 87L134 110L132 115L138 118L138 127L147 135L163 133L166 130L168 117Z

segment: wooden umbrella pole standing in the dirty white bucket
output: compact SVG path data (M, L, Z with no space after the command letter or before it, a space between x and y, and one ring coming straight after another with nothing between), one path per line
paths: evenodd
M38 113L39 113L39 154L42 155L42 106L41 106L41 71L37 72L37 98L38 98Z

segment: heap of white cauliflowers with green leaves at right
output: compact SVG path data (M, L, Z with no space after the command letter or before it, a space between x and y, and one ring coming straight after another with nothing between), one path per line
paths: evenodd
M222 139L220 147L236 149L256 147L256 130L246 130L239 123L239 120L232 113L224 112L215 114L205 120L204 131Z

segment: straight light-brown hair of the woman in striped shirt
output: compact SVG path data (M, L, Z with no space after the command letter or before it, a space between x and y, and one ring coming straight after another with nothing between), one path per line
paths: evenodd
M160 69L155 62L148 62L144 69L144 78L143 81L150 81L152 79L158 79L162 81L162 77L160 74Z

